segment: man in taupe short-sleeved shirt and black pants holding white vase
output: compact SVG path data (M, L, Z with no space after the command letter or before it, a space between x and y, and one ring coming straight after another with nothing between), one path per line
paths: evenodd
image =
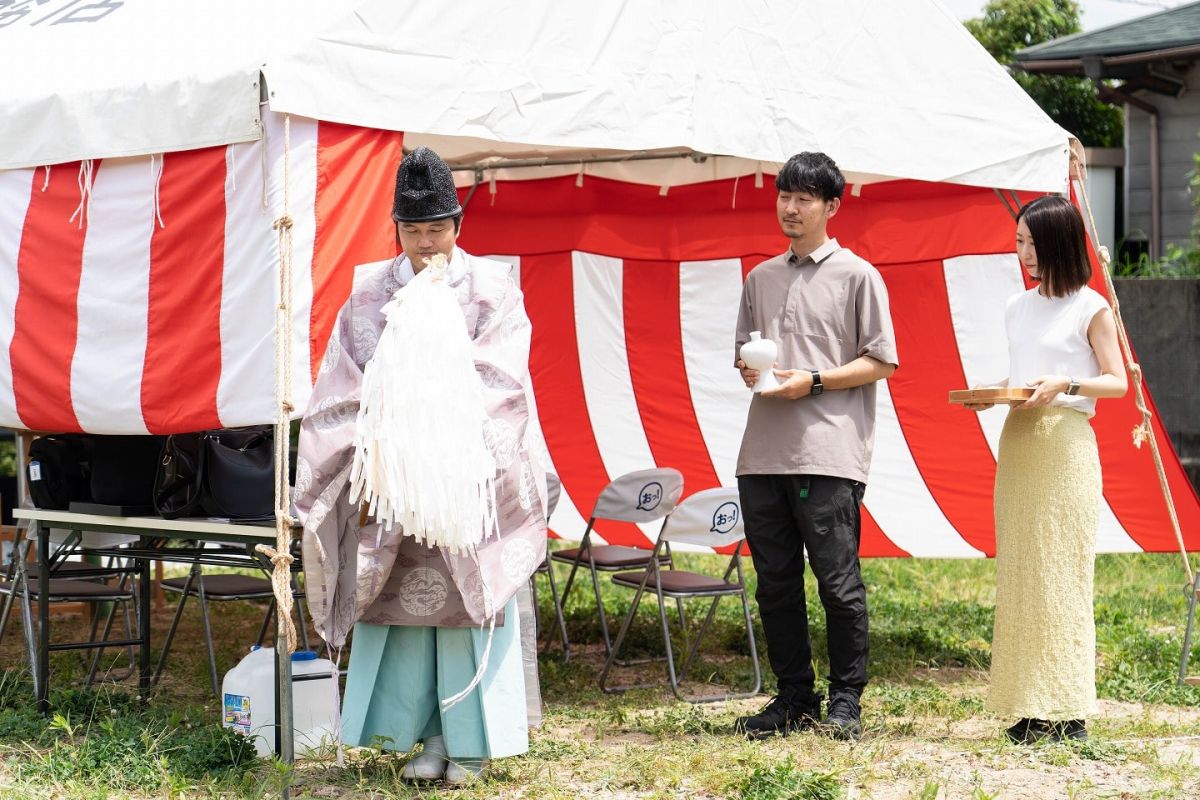
M746 277L737 348L762 331L779 345L780 386L755 395L738 455L755 599L779 694L737 730L752 739L817 728L858 739L866 685L866 588L858 564L859 506L875 438L875 381L899 365L878 271L829 239L846 181L821 152L792 156L775 176L791 246ZM734 356L737 357L737 356ZM758 378L740 359L746 386ZM804 558L824 606L829 704L815 691Z

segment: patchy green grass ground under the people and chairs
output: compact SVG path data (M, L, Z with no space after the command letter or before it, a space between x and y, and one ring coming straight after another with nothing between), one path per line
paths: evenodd
M719 569L716 559L679 557L680 566ZM1098 691L1109 712L1084 745L1016 747L1000 735L1007 721L984 710L992 621L994 565L985 560L880 559L864 564L871 614L871 685L863 698L866 734L858 745L797 735L746 742L728 734L733 718L764 699L691 705L670 692L599 691L602 666L589 585L566 607L576 656L556 645L540 658L546 703L530 751L494 765L481 786L413 788L406 760L385 748L350 751L292 770L254 759L240 736L217 723L196 609L185 613L168 678L149 705L126 687L71 688L83 674L72 654L54 656L54 712L32 710L28 675L0 673L0 799L6 798L266 798L284 783L296 798L988 798L1006 796L1012 775L1044 776L1046 796L1104 798L1195 794L1200 789L1200 688L1175 685L1186 597L1177 555L1105 555L1097 560ZM818 675L827 672L826 628L809 576L806 597ZM752 570L748 579L754 583ZM601 581L613 628L632 593ZM581 591L580 589L587 589ZM550 620L542 583L542 620ZM156 636L172 608L155 616ZM689 607L695 621L702 604ZM262 608L227 603L214 616L218 663L228 669L251 643ZM671 609L672 625L676 612ZM19 627L17 628L19 632ZM643 601L629 655L662 652L653 597ZM773 678L757 631L766 691ZM692 681L727 685L750 678L737 602L719 606L707 655ZM683 640L676 631L674 646ZM19 636L0 646L23 664ZM661 663L626 669L625 679L664 678ZM1195 672L1200 673L1200 648ZM701 687L712 691L712 686ZM1024 770L1024 771L1022 771ZM1114 774L1122 787L1114 786ZM1027 777L1027 776L1026 776ZM1026 780L1026 778L1021 778ZM1122 792L1124 793L1122 795Z

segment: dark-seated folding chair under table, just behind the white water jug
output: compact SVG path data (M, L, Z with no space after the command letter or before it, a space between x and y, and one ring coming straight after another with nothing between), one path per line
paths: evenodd
M258 627L257 644L262 646L263 640L266 638L266 628L271 622L271 618L275 616L275 590L271 587L271 582L266 578L248 575L203 575L200 565L196 563L192 564L192 569L186 578L167 578L161 585L163 591L179 595L179 606L175 608L175 615L170 620L170 628L167 631L167 638L162 644L162 652L158 655L158 666L155 668L154 680L151 681L152 685L157 685L158 679L162 678L162 670L167 666L167 654L170 651L170 643L175 638L175 630L179 627L179 620L184 615L184 606L187 604L187 599L197 597L200 601L200 624L204 628L204 643L208 645L209 652L209 680L212 684L212 693L221 697L221 682L217 679L217 656L212 646L212 627L209 622L209 601L269 600L266 615L263 618L263 624ZM304 593L296 587L294 577L292 578L292 596L298 600L304 599ZM307 650L308 624L304 618L304 604L295 603L295 609L296 615L300 618L300 637L304 649Z

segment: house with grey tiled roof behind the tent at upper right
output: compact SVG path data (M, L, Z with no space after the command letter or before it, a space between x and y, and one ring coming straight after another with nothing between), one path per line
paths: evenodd
M1018 52L1014 66L1122 82L1100 88L1102 100L1124 108L1112 241L1124 240L1134 254L1145 242L1151 258L1169 243L1187 245L1195 216L1188 179L1200 150L1200 2L1036 44Z

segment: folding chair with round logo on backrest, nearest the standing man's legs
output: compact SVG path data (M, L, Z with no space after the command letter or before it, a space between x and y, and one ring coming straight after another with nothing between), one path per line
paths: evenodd
M736 545L736 547L733 548L733 554L730 557L730 563L725 569L725 573L718 578L715 576L688 572L685 570L664 571L656 557L662 548L668 547L672 542L712 548L728 547L731 545ZM618 572L612 576L612 582L616 585L625 587L626 589L635 589L637 594L629 608L629 614L625 615L625 621L620 626L620 632L617 633L617 642L613 644L612 651L608 654L608 661L604 666L604 672L600 673L601 690L616 693L629 688L642 688L646 686L660 685L608 685L608 673L612 670L612 666L617 663L617 654L620 651L620 645L625 640L625 636L629 633L634 618L637 615L637 607L642 602L642 595L644 595L647 590L650 590L658 596L659 601L659 620L662 626L662 643L666 645L667 650L667 680L670 681L671 691L674 692L676 697L682 700L688 700L689 703L709 703L713 700L751 697L758 693L758 690L762 686L762 674L758 669L758 650L755 645L754 624L750 620L750 601L746 597L745 578L742 573L742 546L744 542L745 529L742 524L742 504L738 499L738 491L736 488L715 488L697 492L680 503L679 507L671 512L671 515L666 518L666 522L664 522L662 531L659 534L659 541L654 546L655 558L649 560L647 569L640 572ZM731 582L730 577L734 572L737 572L737 581ZM750 644L750 663L754 668L754 686L749 691L740 693L684 697L679 691L679 684L684 678L686 678L688 670L691 668L691 663L700 650L700 643L703 640L704 633L708 631L708 627L713 621L713 615L716 613L716 604L721 601L721 597L730 595L742 597L742 614L745 618L746 640ZM686 634L688 622L683 615L680 615L679 624L684 632L686 656L684 657L683 667L679 669L678 676L676 675L674 654L671 649L671 628L667 624L667 610L665 604L665 599L667 597L676 600L677 603L682 603L684 600L690 600L692 597L713 599L713 603L708 608L708 614L704 616L704 621L701 624L700 631L696 633L696 637L690 645L686 644L689 638Z

